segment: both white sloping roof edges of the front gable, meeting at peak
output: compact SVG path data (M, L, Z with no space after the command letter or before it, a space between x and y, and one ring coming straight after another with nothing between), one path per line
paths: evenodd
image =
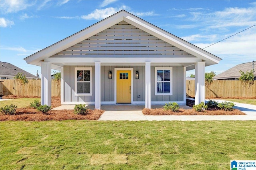
M134 25L135 27L138 27L149 34L200 58L202 61L206 61L206 66L217 64L221 60L219 57L216 57L215 55L212 55L211 53L208 53L207 51L204 51L203 49L200 49L199 47L196 47L195 45L192 45L191 43L188 43L187 41L184 41L183 39L164 31L163 29L160 29L159 27L156 27L155 25L152 25L151 23L148 23L141 18L134 16L133 14L130 14L125 10L121 10L120 12L117 12L116 14L102 21L87 27L86 29L58 41L57 43L26 57L24 60L29 64L40 66L40 61L44 61L44 59L51 57L52 55L55 55L60 51L63 51L64 49L67 49L72 45L75 45L76 43L79 43L80 41L99 33L100 31L108 29L121 21Z

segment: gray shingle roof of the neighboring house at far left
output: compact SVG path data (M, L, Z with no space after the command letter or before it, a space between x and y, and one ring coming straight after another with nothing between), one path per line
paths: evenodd
M26 77L37 78L33 74L30 74L29 72L26 72L17 66L0 61L0 74L15 76L19 72Z

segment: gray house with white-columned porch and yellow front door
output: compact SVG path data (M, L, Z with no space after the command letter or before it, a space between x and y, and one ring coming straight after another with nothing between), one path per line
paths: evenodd
M61 104L186 104L186 70L195 69L196 104L204 67L221 60L124 10L24 59L41 66L50 106L51 68L61 71Z

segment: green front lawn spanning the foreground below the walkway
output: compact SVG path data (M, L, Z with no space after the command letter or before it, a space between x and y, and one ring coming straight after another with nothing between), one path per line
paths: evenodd
M0 123L1 170L224 170L256 159L255 121Z

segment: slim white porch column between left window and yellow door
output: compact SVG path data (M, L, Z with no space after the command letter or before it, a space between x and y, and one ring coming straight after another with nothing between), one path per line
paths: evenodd
M95 109L100 109L100 62L95 62Z

